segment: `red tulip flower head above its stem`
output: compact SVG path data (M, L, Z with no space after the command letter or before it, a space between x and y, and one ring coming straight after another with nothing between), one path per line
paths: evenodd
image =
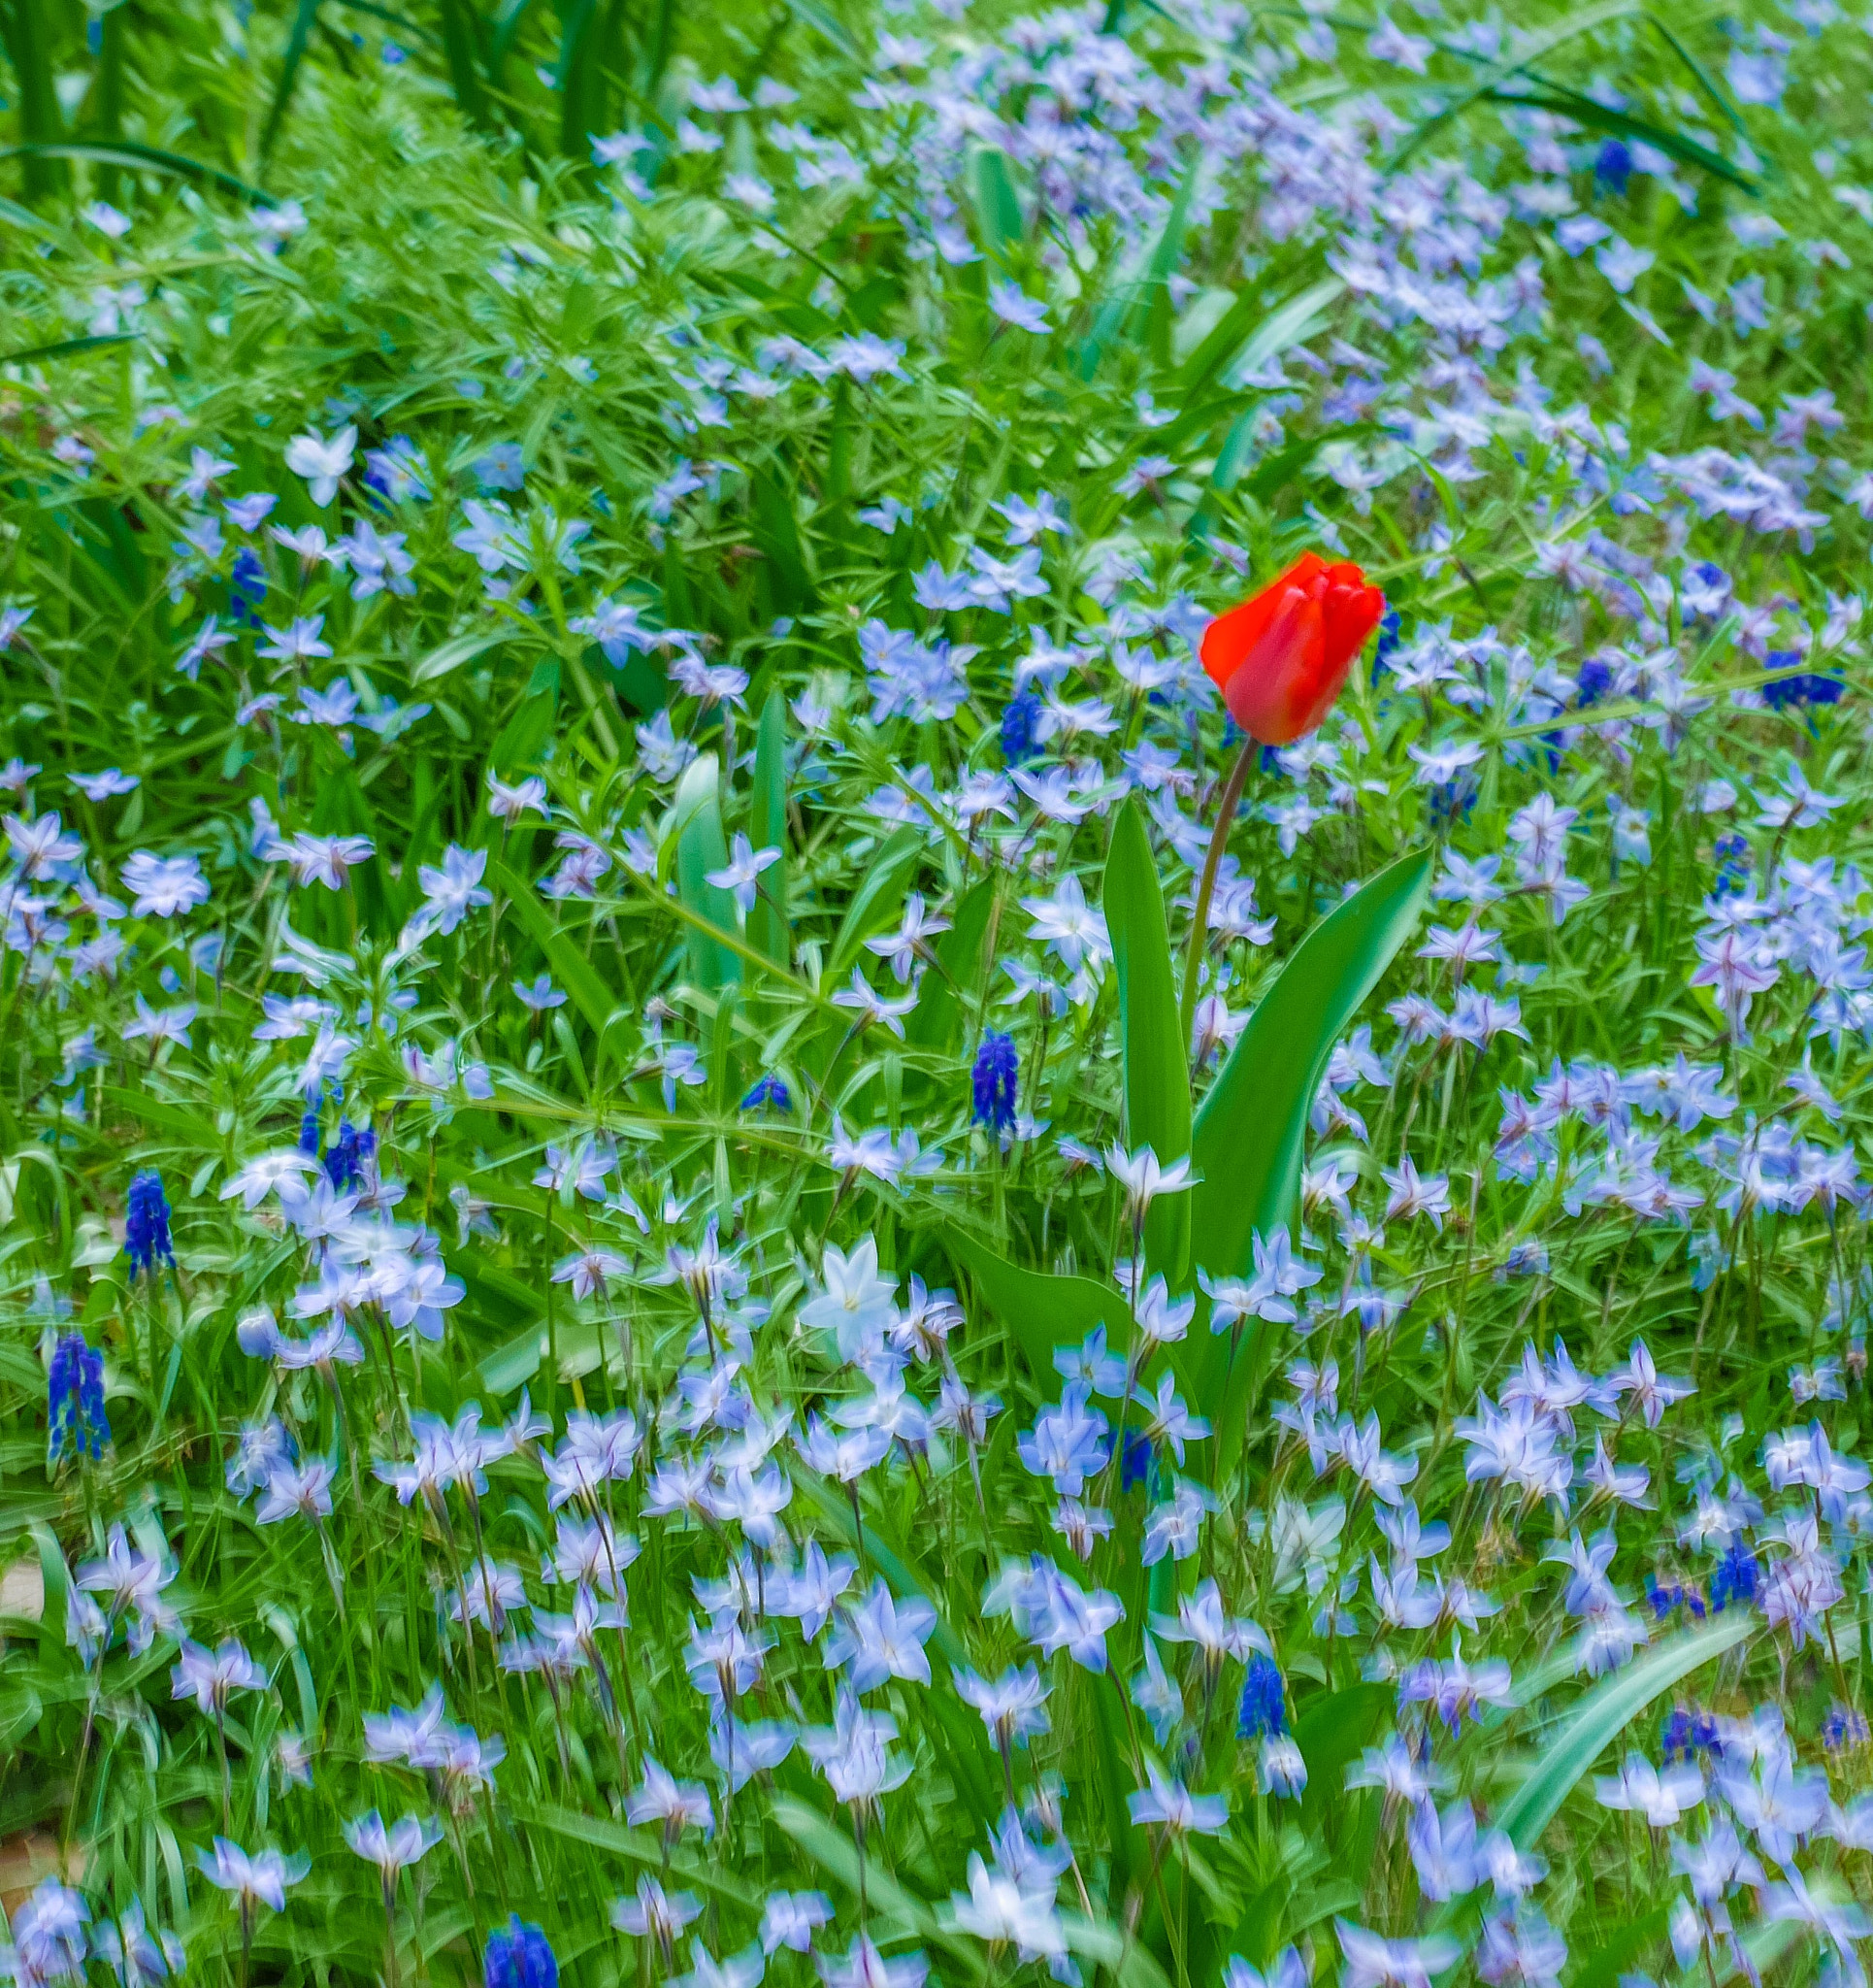
M1386 596L1350 559L1302 553L1203 630L1203 668L1249 738L1292 746L1332 710L1384 612Z

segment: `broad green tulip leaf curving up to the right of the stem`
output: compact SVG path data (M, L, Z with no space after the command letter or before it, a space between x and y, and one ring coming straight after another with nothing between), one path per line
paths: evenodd
M1197 1171L1191 1233L1197 1262L1211 1274L1247 1276L1255 1233L1273 1235L1292 1221L1320 1072L1418 922L1430 875L1432 851L1400 857L1328 912L1255 1004L1209 1087L1191 1141ZM1217 1408L1219 1471L1243 1441L1243 1404L1255 1366L1251 1358L1233 1358L1229 1340L1185 1346L1197 1398Z

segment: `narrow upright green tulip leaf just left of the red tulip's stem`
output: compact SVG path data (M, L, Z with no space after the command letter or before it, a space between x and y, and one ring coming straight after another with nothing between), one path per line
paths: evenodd
M1106 930L1119 982L1119 1046L1125 1083L1125 1143L1149 1145L1159 1161L1191 1151L1191 1077L1171 974L1171 934L1151 839L1137 795L1111 825L1106 857ZM1145 1260L1175 1288L1189 1264L1191 1197L1163 1195L1145 1215Z

